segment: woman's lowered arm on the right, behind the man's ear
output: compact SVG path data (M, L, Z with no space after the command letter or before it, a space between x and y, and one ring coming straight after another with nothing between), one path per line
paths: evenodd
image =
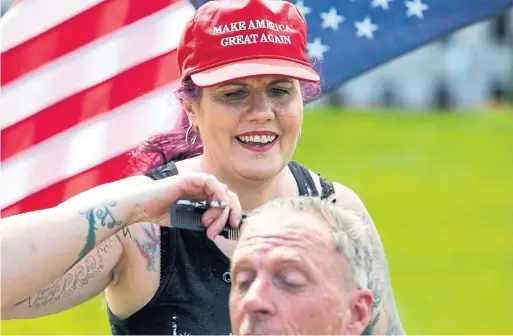
M337 203L360 214L371 228L373 266L369 271L374 303L372 318L363 335L405 335L397 312L388 264L376 226L360 198L349 188L334 183Z

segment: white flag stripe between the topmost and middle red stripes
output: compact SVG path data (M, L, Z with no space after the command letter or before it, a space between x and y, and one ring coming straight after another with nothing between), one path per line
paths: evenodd
M4 129L70 95L176 49L194 14L190 3L160 10L3 87Z

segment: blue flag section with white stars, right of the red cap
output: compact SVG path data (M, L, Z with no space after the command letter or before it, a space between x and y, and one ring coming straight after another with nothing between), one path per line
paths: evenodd
M513 0L299 0L308 54L324 93L439 37L490 18ZM421 67L422 64L419 64Z

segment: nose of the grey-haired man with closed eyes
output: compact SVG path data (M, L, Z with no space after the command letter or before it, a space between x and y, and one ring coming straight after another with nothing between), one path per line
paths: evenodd
M243 309L255 317L270 317L275 312L272 286L265 279L255 279L243 298Z

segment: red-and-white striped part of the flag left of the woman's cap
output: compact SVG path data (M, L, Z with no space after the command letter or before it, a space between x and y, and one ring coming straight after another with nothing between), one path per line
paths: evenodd
M121 177L173 127L185 0L23 0L2 18L2 216Z

